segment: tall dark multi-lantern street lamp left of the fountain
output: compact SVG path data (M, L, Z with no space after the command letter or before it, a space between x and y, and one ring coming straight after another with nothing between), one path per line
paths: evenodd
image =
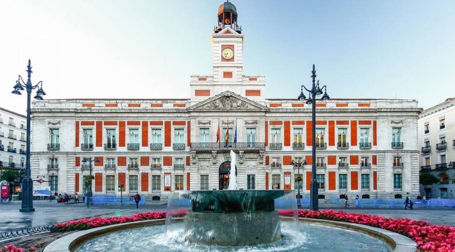
M27 91L27 136L26 136L26 150L25 150L25 176L22 180L22 207L19 210L20 212L33 212L35 209L33 208L33 180L30 177L30 106L31 106L31 91L35 88L39 89L36 91L35 99L42 100L42 95L45 95L44 91L42 90L42 81L38 82L36 85L31 84L31 63L30 59L28 60L27 66L27 82L25 83L22 77L19 75L18 80L16 81L16 85L14 85L13 94L21 95L22 90Z

